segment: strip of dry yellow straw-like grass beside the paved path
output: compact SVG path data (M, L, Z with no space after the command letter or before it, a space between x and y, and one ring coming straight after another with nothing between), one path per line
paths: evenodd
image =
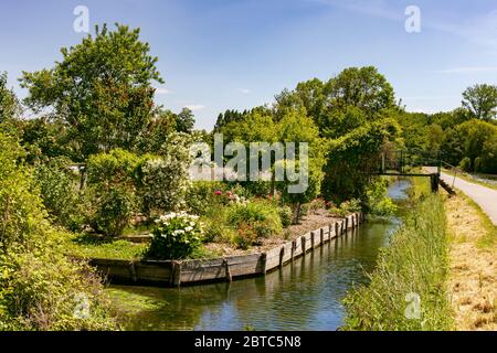
M452 236L450 281L457 330L497 330L497 248L480 248L486 234L482 215L463 197L446 202ZM497 235L495 235L497 236Z

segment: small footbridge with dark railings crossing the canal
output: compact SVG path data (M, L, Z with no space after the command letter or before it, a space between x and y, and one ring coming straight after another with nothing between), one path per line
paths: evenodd
M450 194L454 194L453 188L440 179L443 164L447 163L442 160L440 151L420 149L383 151L370 174L430 178L433 192L437 192L438 185L442 185ZM423 172L424 168L430 168L430 172Z

